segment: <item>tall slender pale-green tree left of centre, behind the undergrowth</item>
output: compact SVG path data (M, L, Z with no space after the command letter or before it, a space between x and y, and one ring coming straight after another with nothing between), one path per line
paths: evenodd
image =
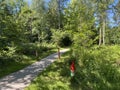
M46 13L47 8L45 6L44 0L36 0L32 4L32 9L35 11L34 16L36 20L33 23L34 31L38 32L38 41L44 41L48 36L48 29L47 29L47 20L46 20Z

